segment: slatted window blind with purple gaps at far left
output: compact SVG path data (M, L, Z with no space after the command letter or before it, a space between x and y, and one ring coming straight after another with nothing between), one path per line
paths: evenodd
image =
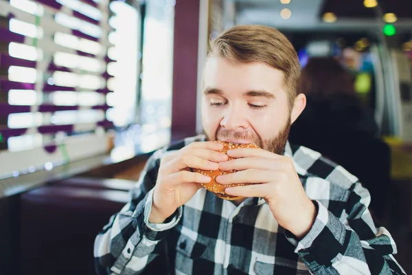
M108 0L0 0L0 178L104 153Z

